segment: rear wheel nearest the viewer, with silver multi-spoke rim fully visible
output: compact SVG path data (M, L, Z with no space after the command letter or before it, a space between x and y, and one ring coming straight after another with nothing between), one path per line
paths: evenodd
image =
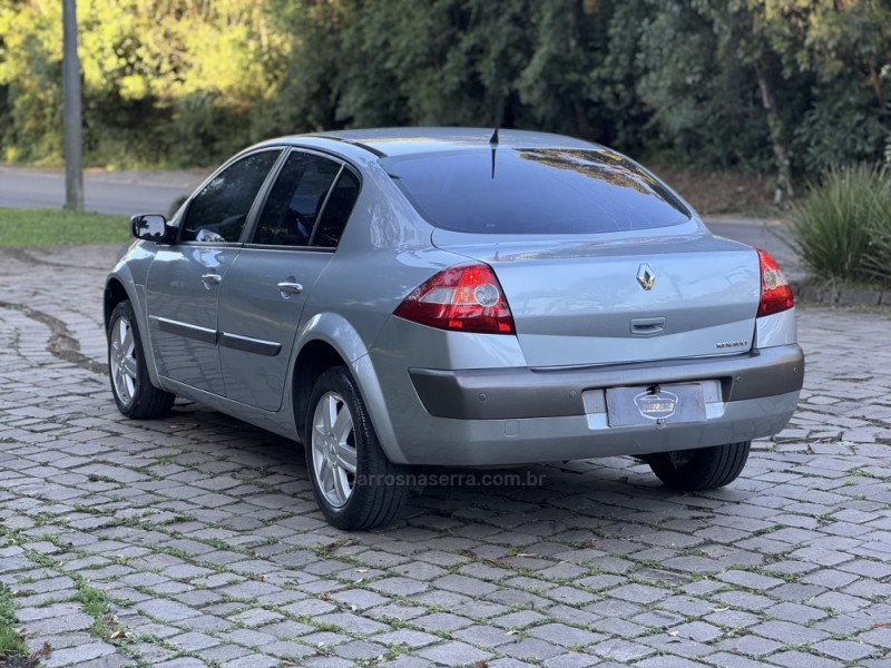
M384 454L353 376L323 372L310 396L304 434L313 493L330 524L346 531L389 524L405 500L405 466Z

